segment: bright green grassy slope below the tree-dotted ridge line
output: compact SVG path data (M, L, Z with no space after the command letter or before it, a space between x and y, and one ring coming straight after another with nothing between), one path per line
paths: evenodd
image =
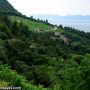
M32 31L36 31L39 28L39 29L44 30L44 31L60 31L60 32L63 32L63 30L60 30L60 29L54 30L54 27L46 25L44 23L31 21L31 20L21 18L21 17L17 17L17 16L10 16L10 19L12 21L21 21L21 22L23 22Z

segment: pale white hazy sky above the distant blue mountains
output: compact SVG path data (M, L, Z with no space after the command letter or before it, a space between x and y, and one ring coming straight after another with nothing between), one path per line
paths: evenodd
M90 0L8 0L25 15L90 15Z

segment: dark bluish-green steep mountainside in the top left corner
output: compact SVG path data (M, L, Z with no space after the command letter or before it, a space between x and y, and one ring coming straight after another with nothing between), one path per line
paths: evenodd
M7 0L0 0L0 13L20 14Z

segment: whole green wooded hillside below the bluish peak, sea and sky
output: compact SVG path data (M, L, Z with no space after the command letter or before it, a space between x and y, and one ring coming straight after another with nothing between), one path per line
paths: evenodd
M0 14L0 89L10 86L89 90L90 33L32 17Z

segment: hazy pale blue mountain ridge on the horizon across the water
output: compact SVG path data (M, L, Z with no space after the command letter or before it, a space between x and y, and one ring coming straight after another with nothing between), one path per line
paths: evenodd
M59 16L59 15L43 15L43 14L38 14L38 15L32 15L36 19L43 19L46 20L48 19L51 23L52 22L71 22L71 23L81 23L81 22L89 22L90 23L90 15L67 15L67 16Z

